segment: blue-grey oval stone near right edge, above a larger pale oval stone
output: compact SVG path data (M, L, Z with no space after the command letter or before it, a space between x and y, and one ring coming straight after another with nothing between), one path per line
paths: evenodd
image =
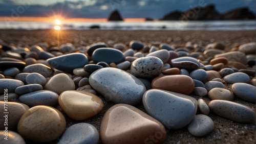
M247 74L241 72L232 73L230 75L225 76L223 79L225 82L230 84L248 83L250 81L250 77Z

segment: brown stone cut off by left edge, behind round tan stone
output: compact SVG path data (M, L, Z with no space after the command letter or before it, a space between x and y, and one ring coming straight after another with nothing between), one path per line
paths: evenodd
M3 114L3 116L0 117L0 123L2 125L0 125L0 129L1 130L5 130L5 127L8 127L8 132L9 130L16 130L17 125L18 125L18 121L19 118L22 117L22 115L29 109L29 106L27 106L26 104L23 103L16 103L16 102L3 102L0 101L0 112L4 113L6 111L4 111L4 104L7 104L8 106L8 123L5 123L5 117ZM4 124L8 124L8 125L4 125Z

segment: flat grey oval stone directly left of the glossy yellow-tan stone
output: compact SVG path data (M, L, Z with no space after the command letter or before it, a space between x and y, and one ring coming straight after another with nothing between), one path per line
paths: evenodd
M29 107L38 105L56 106L58 104L59 95L50 90L37 90L20 95L18 98L20 102Z

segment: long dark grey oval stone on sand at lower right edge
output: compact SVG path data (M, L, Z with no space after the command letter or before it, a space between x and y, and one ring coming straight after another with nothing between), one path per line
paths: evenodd
M210 101L208 106L215 114L234 122L253 123L255 120L255 112L242 104L225 100L213 100Z

